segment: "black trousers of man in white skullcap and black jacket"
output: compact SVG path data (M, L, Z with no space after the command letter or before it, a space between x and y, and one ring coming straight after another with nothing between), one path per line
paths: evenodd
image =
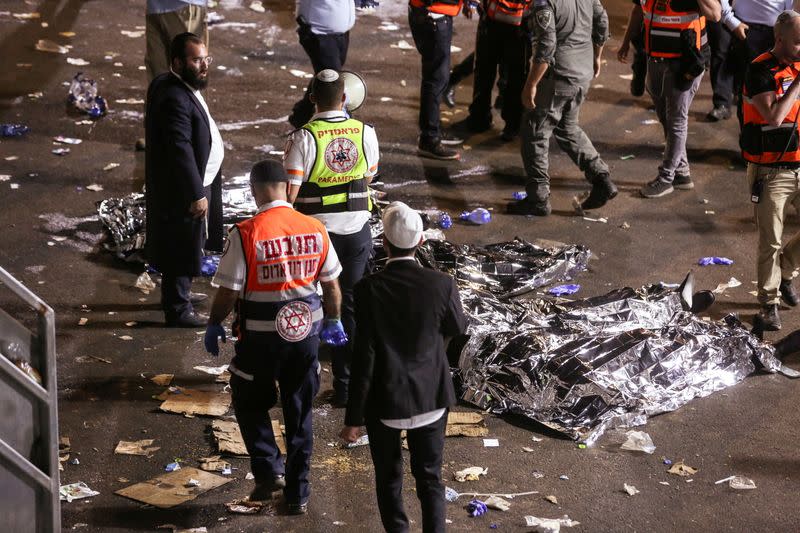
M411 474L422 507L422 531L445 531L446 502L442 483L442 452L447 412L436 422L406 432L411 455ZM400 430L379 420L367 422L369 450L375 467L375 492L381 522L389 533L408 531L403 508L403 454Z

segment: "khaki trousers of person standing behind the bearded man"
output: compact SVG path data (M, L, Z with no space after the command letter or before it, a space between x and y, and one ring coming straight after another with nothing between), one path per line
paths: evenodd
M208 25L206 8L187 4L177 11L157 13L146 17L147 53L144 65L147 67L147 83L159 74L169 71L169 46L176 35L192 32L206 43L208 48Z

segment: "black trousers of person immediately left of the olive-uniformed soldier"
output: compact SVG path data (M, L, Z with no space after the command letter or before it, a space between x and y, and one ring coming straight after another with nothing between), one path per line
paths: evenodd
M492 122L492 89L498 71L506 74L501 116L506 130L519 131L522 120L522 87L528 77L531 44L525 28L482 17L475 43L475 79L469 121L479 128Z

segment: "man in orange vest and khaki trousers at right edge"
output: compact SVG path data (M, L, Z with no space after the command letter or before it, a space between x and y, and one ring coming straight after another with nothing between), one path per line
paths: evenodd
M740 144L758 226L757 297L760 331L781 328L780 301L798 304L792 278L800 266L800 234L783 242L789 204L800 208L800 14L784 11L775 23L775 46L748 67L742 91Z

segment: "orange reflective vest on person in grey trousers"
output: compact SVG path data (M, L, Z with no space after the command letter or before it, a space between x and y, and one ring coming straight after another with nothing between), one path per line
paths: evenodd
M697 11L675 11L671 0L643 0L645 50L650 57L680 58L683 53L681 32L694 30L695 46L707 42L706 18Z

